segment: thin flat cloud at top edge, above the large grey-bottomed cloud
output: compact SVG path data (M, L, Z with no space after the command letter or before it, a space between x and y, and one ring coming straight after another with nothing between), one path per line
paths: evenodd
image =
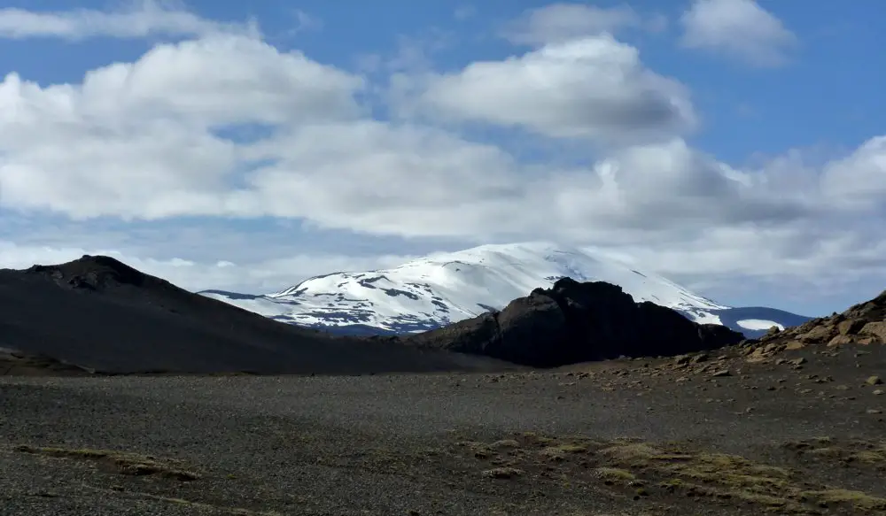
M658 31L666 23L661 15L644 19L627 5L597 7L585 4L550 4L531 9L509 22L501 35L510 42L528 45L568 42L587 36L612 33L626 27Z

